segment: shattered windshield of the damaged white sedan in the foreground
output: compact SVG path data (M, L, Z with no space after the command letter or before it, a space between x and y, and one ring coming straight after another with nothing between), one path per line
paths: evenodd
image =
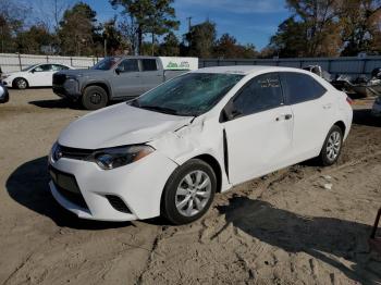
M238 74L187 73L146 92L131 104L174 115L197 116L216 106L243 77Z

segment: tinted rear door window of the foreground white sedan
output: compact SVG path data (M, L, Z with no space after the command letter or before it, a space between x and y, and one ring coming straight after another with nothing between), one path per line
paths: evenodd
M288 104L318 99L325 94L325 88L307 74L281 73L282 86Z

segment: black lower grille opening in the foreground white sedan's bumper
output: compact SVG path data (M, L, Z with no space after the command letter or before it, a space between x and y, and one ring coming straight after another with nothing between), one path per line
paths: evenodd
M81 208L88 209L74 175L58 171L51 166L49 168L49 173L57 190L66 200Z

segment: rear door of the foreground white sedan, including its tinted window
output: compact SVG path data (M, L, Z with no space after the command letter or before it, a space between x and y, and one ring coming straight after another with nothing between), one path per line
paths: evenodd
M294 114L294 162L318 156L333 124L334 98L307 74L284 72L281 80Z

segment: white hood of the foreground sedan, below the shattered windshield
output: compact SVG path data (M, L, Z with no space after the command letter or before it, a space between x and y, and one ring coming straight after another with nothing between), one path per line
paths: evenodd
M61 133L58 142L83 149L144 144L189 124L192 119L148 111L123 102L74 121Z

